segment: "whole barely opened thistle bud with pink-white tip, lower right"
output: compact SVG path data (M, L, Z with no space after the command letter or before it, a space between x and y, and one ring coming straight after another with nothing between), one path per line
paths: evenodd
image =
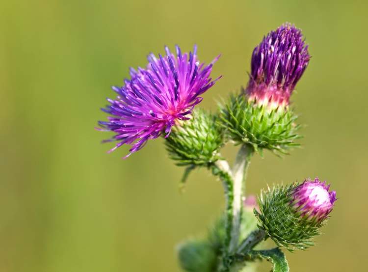
M333 209L336 191L329 188L316 178L263 191L260 212L254 211L259 227L279 246L306 249Z

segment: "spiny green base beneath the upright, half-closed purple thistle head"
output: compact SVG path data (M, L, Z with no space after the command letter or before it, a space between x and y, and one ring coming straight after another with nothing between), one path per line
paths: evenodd
M286 153L298 145L295 139L300 128L295 125L297 116L290 109L268 109L248 102L244 95L230 97L220 107L220 120L228 135L237 143L250 143L255 150L263 148Z

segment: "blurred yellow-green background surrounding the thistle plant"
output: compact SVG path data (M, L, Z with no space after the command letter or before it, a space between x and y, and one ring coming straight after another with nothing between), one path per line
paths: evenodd
M175 43L198 44L223 78L201 107L247 82L252 49L283 22L313 58L293 95L304 147L256 156L248 192L318 176L338 191L316 246L287 253L291 271L366 271L367 1L71 1L0 3L0 272L179 271L175 246L223 208L219 181L183 169L162 139L128 160L94 130L110 85ZM235 150L224 153L233 156ZM264 265L263 271L269 271Z

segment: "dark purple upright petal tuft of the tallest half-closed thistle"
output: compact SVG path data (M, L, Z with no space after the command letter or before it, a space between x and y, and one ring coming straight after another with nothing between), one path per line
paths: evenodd
M309 59L300 29L287 23L271 31L253 51L248 99L271 108L288 106Z

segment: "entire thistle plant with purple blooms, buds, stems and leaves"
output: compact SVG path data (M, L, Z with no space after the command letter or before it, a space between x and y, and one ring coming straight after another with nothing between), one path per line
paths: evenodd
M251 272L256 260L269 260L273 271L289 271L281 248L306 249L326 223L336 192L317 178L303 183L273 185L256 197L245 194L250 160L269 150L289 154L297 146L297 115L290 96L306 70L310 55L301 30L290 24L268 33L256 46L249 80L240 93L230 95L217 112L194 109L202 95L221 77L212 80L212 67L200 63L197 48L182 54L148 56L145 69L131 68L131 78L112 87L107 99L107 121L98 130L114 133L104 142L116 141L113 151L131 145L140 150L149 139L165 138L168 156L184 166L183 182L196 167L206 167L224 188L225 211L210 227L207 237L178 246L181 267L188 272ZM230 166L221 155L226 144L239 150ZM263 241L270 238L276 247Z

